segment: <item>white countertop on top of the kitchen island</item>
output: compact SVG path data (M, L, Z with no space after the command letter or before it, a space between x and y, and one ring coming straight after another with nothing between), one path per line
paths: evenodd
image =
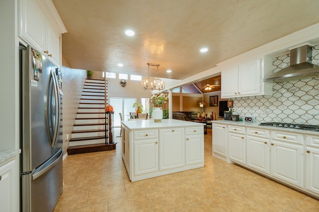
M154 122L152 119L122 121L122 124L129 129L148 129L148 128L171 128L171 127L191 127L203 126L204 123L182 121L177 119L162 119L161 122Z

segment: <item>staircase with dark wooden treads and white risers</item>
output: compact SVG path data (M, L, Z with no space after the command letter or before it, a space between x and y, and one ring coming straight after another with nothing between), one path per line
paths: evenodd
M70 146L67 149L68 155L116 148L116 143L108 144L109 121L108 116L107 120L105 116L105 96L104 80L85 80Z

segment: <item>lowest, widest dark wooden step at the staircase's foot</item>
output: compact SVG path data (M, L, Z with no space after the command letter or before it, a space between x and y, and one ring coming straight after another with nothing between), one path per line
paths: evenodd
M70 146L67 148L68 155L82 154L89 152L100 152L109 151L116 149L116 142L112 144L98 143L98 144L87 144L81 146Z

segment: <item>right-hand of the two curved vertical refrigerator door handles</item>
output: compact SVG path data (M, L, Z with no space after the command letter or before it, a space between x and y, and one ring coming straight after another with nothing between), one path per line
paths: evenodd
M55 98L55 122L54 122L54 131L53 131L53 138L51 147L53 148L58 139L58 133L59 133L59 125L60 125L60 98L58 93L58 87L57 87L57 79L55 76L55 73L51 70L51 78L53 82L53 90L54 90L54 98Z

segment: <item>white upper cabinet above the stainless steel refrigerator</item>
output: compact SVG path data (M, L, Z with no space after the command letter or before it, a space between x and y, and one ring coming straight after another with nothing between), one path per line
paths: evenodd
M53 14L46 15L48 12ZM64 32L66 29L51 1L19 0L19 37L58 67L60 36Z

